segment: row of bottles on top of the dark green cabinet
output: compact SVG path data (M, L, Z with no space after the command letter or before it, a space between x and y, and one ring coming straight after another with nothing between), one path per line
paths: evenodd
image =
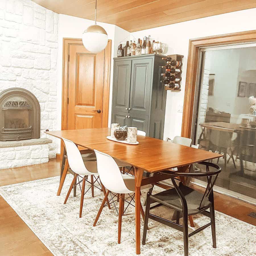
M164 51L164 44L161 42L155 42L151 40L151 36L144 36L143 39L138 38L138 41L135 40L126 41L125 46L120 43L117 49L117 57L128 57L135 55L151 54L158 53L162 54Z

